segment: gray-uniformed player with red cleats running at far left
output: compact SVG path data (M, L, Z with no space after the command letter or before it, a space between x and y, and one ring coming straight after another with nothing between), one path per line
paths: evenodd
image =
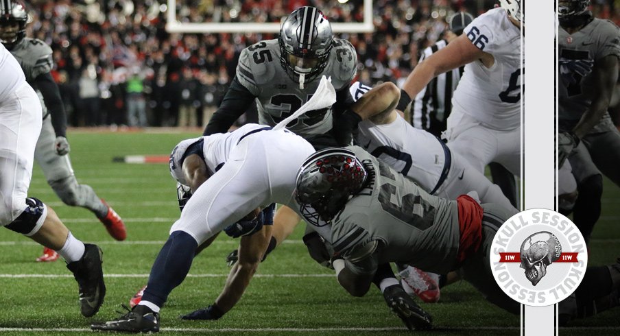
M40 93L43 103L43 127L34 157L36 158L47 183L64 204L82 206L92 211L104 224L110 236L122 241L127 237L125 224L119 215L93 188L79 184L69 160L67 141L67 119L60 99L60 91L51 77L51 49L42 40L25 37L29 16L26 8L18 0L5 1L0 16L0 42L19 61L27 82ZM45 248L37 261L56 261L58 254Z

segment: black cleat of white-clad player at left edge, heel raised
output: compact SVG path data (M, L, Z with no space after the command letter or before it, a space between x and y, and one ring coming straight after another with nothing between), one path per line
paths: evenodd
M104 270L102 269L103 252L97 245L84 244L86 248L82 259L67 264L69 271L78 281L80 289L80 310L84 317L91 317L102 307L106 296Z

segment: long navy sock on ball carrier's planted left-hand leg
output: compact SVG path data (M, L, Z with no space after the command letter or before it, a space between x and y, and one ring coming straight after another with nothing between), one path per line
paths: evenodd
M172 232L153 263L142 300L163 307L168 294L187 276L196 247L198 243L188 233Z

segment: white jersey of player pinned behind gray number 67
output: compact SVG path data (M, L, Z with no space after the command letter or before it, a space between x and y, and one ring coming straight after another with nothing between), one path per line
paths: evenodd
M357 101L370 88L355 82L350 93ZM398 115L392 123L359 123L357 145L431 192L440 180L446 154L441 141L425 130L411 127Z

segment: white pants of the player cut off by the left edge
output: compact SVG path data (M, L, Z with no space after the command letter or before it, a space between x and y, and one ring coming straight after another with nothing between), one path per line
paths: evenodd
M26 83L0 101L0 225L11 224L26 208L34 147L43 115Z

